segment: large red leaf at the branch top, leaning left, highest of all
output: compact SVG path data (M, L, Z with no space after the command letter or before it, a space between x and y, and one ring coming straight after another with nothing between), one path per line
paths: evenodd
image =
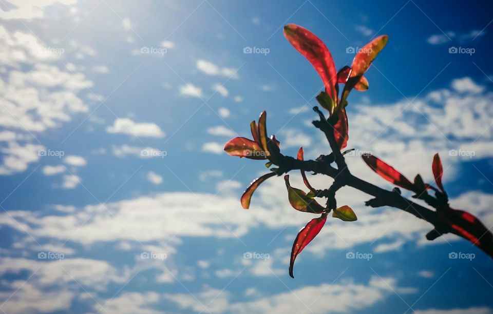
M308 29L295 24L286 25L284 35L291 45L310 61L322 78L327 94L337 103L337 71L329 49Z

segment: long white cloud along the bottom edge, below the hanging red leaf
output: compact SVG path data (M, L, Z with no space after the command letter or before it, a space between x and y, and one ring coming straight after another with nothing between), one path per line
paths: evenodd
M280 292L273 296L256 298L253 301L231 301L227 291L206 288L194 293L165 293L164 298L175 302L181 309L214 313L233 311L237 313L301 313L307 307L314 313L352 312L369 307L392 296L394 290L405 292L396 286L393 278L372 277L367 284L352 281L304 286L289 292ZM403 292L404 290L404 292ZM408 290L408 289L407 289ZM204 306L206 305L206 309Z

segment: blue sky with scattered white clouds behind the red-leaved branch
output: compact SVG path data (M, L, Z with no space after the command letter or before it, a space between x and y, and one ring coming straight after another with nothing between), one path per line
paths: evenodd
M391 188L358 157L369 151L430 181L439 152L452 207L492 226L491 12L486 1L0 1L0 309L493 312L482 251L428 242L431 225L367 208L350 188L338 203L358 221L328 220L291 279L292 241L312 215L291 208L281 178L243 210L267 169L222 151L262 110L283 153L330 151L311 125L323 85L283 25L317 34L337 68L387 34L369 90L349 97L351 172ZM298 173L291 182L302 187Z

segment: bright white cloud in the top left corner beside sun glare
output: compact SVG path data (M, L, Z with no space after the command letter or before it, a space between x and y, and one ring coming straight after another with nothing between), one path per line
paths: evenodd
M0 18L3 19L33 19L43 17L45 14L43 9L56 3L64 5L72 5L77 3L77 0L24 0L13 1L8 0L8 3L12 3L12 8L8 11L4 9L0 10ZM11 7L11 6L8 6Z

